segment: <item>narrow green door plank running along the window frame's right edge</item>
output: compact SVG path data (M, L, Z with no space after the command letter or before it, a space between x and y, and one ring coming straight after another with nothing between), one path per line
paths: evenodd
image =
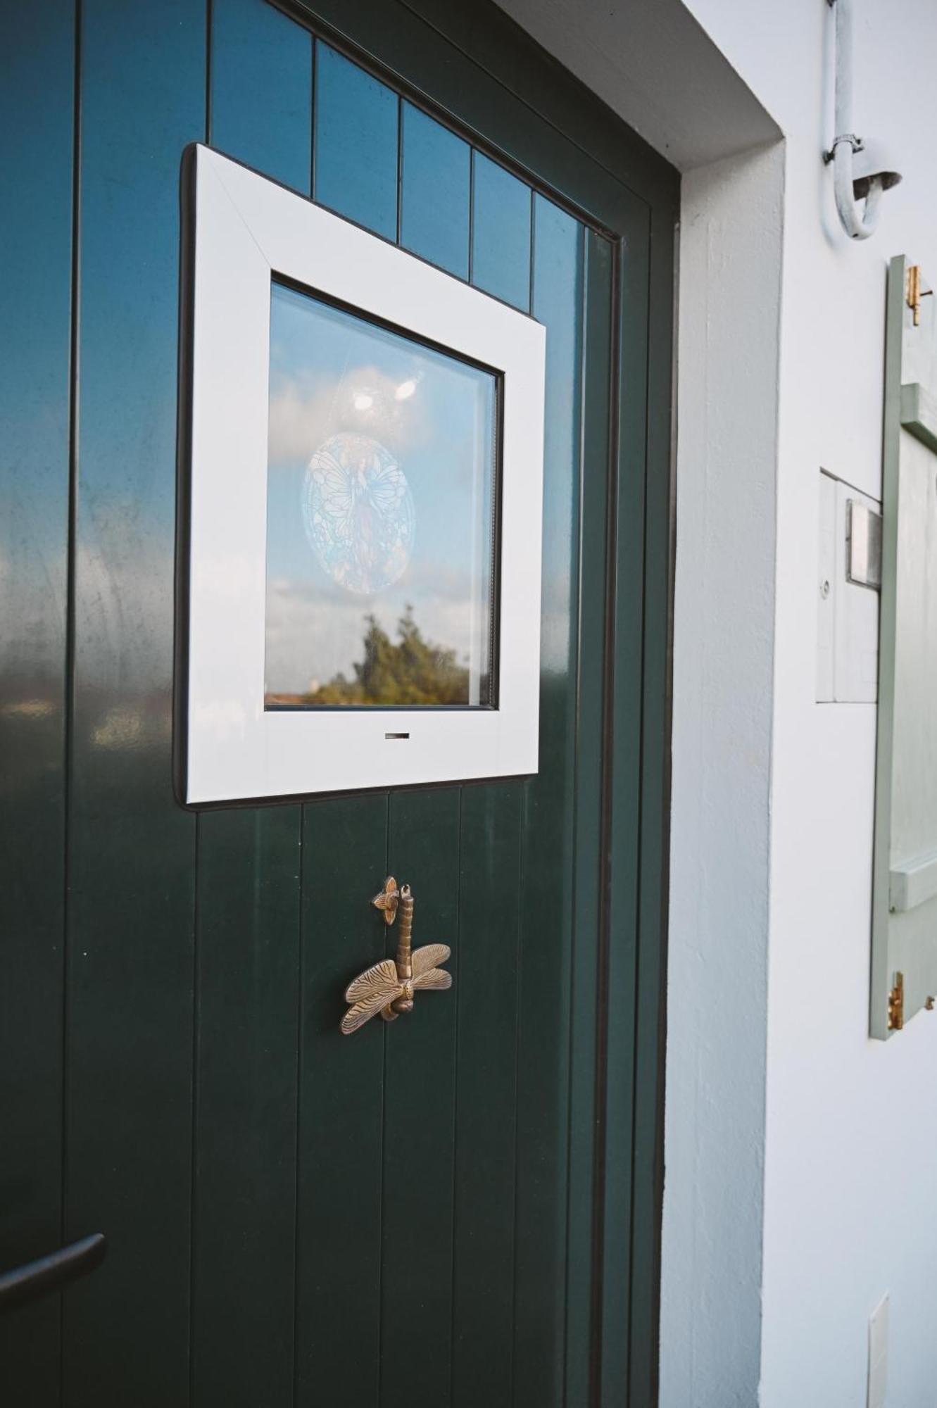
M540 759L525 783L518 1026L515 1398L563 1402L582 228L537 196L533 315L547 329ZM598 798L595 798L598 801Z

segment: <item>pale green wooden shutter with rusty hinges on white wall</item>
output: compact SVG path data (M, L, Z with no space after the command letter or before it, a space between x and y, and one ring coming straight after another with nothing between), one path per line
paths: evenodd
M888 276L871 1032L937 994L937 315ZM912 304L916 304L914 307Z

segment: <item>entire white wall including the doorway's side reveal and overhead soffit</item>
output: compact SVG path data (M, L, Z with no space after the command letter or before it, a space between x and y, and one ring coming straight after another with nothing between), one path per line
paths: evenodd
M937 277L937 3L855 0L855 125L905 175L861 245L826 0L502 3L687 172L661 1405L862 1408L889 1291L888 1405L931 1408L937 1014L867 1035L875 708L813 700L819 467L879 497L885 268ZM784 145L718 162L765 139L746 92Z

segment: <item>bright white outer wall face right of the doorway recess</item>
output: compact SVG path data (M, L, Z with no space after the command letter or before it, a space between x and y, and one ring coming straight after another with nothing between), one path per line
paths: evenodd
M817 161L824 0L691 7L786 137L760 1402L861 1408L868 1316L889 1291L889 1408L930 1408L937 1018L867 1036L875 710L813 703L813 622L817 467L879 497L885 265L937 263L937 6L855 0L855 124L905 175L861 245Z

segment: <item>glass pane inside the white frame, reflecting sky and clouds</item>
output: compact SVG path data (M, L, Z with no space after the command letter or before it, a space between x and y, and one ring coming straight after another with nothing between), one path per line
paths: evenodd
M491 703L494 425L494 373L273 284L269 705Z

